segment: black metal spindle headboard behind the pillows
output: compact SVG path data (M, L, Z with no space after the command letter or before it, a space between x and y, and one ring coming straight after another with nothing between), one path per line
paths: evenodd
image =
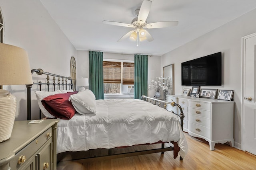
M49 91L49 86L52 85L55 91L55 86L58 86L58 89L60 89L62 87L62 90L71 90L73 83L72 83L72 79L71 77L65 77L65 76L60 76L57 74L52 74L49 72L44 72L41 68L38 69L32 69L31 70L31 74L33 74L34 72L36 72L36 74L38 75L42 75L42 74L46 74L46 83L42 83L42 82L33 82L33 84L38 84L40 86L40 91L42 89L42 85L46 85L47 86L47 91ZM52 78L52 83L50 82L50 76L53 76ZM56 77L58 78L58 82L56 83ZM62 78L62 79L61 79ZM68 83L68 80L70 80L70 83ZM33 86L33 84L27 84L26 88L27 88L27 120L31 120L31 88ZM65 88L64 88L65 87ZM41 111L40 111L40 116L39 119L41 119Z

